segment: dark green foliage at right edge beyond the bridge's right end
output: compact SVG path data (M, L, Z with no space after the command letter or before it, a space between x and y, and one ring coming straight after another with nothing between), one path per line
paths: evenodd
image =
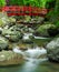
M56 6L53 10L47 14L47 19L59 27L59 0L56 0Z

